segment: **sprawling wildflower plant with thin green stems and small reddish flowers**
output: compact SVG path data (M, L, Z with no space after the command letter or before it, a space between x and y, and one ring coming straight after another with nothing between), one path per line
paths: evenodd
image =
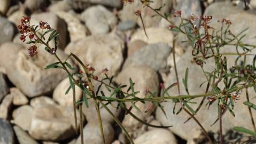
M123 0L125 4L133 3L134 1L125 1ZM128 134L125 127L122 126L119 119L112 113L112 111L107 107L107 105L111 105L112 102L117 102L118 105L115 107L118 109L123 109L126 111L126 114L131 115L134 117L137 121L148 125L152 127L171 127L171 126L158 126L158 125L152 125L149 123L146 123L143 121L143 119L139 119L136 115L131 113L131 109L135 108L137 110L140 110L136 107L136 102L142 102L146 103L149 102L149 105L146 106L146 111L150 111L153 106L159 107L162 112L165 114L164 107L161 105L162 102L173 102L174 103L174 109L173 113L179 114L182 110L184 110L190 118L187 119L189 121L191 118L200 126L200 128L204 131L204 134L206 135L208 141L210 143L213 143L213 140L210 138L208 132L204 129L204 126L201 125L201 123L198 121L198 119L195 117L198 110L203 105L204 101L207 101L206 105L208 107L212 106L214 102L218 102L218 107L216 107L216 110L219 112L219 116L216 117L216 122L219 121L220 124L220 143L222 143L222 116L225 111L229 111L229 113L233 116L235 116L234 113L234 106L236 101L239 100L240 92L242 90L246 91L246 98L247 101L244 102L244 105L249 107L250 117L253 125L253 131L247 130L243 127L234 127L234 130L239 132L244 132L250 135L253 135L256 137L256 128L254 124L254 119L252 115L252 109L256 110L256 105L250 102L248 89L249 87L253 87L256 92L256 67L255 67L255 61L256 61L256 55L253 55L253 61L252 63L245 64L247 55L252 55L250 52L255 49L256 45L250 45L250 44L244 44L242 42L243 37L245 36L242 31L238 35L235 35L232 33L232 31L229 29L230 25L232 25L232 22L228 19L223 19L222 21L219 21L221 23L221 28L216 29L213 28L211 24L212 16L200 16L197 17L194 14L191 14L189 18L183 18L182 17L182 11L176 11L173 14L173 17L177 20L180 20L180 25L176 26L174 25L174 22L170 21L170 14L169 13L160 13L160 8L154 9L150 6L151 1L148 0L141 0L141 3L143 7L148 7L156 14L158 14L160 17L166 19L169 23L169 29L172 31L178 31L180 34L184 34L188 38L188 43L192 47L192 56L193 59L191 60L192 63L197 65L204 73L205 79L206 79L206 90L205 93L202 94L196 94L191 95L188 90L188 76L189 76L189 69L185 71L185 76L182 79L183 86L185 87L185 90L187 92L187 95L170 95L168 91L170 89L173 89L173 87L177 87L179 93L180 93L180 83L179 78L176 70L176 61L175 61L175 41L173 42L173 58L174 58L174 69L176 74L177 82L165 87L164 84L160 84L162 93L161 97L156 97L156 92L151 92L148 89L146 90L145 98L139 98L136 95L139 93L138 91L135 91L135 86L133 80L129 79L129 85L117 85L112 82L113 76L108 76L107 71L108 69L103 69L102 74L103 77L99 79L96 75L94 75L95 69L91 67L90 65L84 64L75 54L70 53L68 57L61 61L58 57L58 40L57 37L59 35L58 31L55 29L52 29L50 25L46 22L41 21L38 23L38 26L30 25L30 17L23 17L21 19L21 25L18 26L20 29L20 39L22 42L25 42L26 39L29 39L27 44L33 44L28 48L28 55L30 57L34 57L37 53L37 46L40 44L43 44L45 46L45 51L49 52L53 57L56 57L57 62L51 63L50 65L46 66L45 69L50 68L60 68L66 71L69 78L69 84L70 86L66 90L66 93L68 93L70 90L73 92L73 100L74 100L74 119L76 124L76 130L77 127L77 119L76 119L76 107L79 107L80 111L80 117L82 117L82 105L86 105L86 107L89 107L88 99L93 99L95 108L97 110L97 116L98 116L98 123L100 127L100 132L102 134L102 138L104 143L105 137L103 133L103 126L102 126L102 119L100 116L100 108L104 108L108 111L108 113L113 117L114 121L121 127L123 132L127 135L127 138L131 143L133 142L133 139ZM144 9L144 8L143 8ZM135 12L138 17L141 18L142 23L143 19L141 17L141 11ZM197 21L200 20L201 24L196 25ZM144 32L146 35L146 30L143 23ZM212 31L212 32L211 32ZM46 39L44 36L45 34L50 33L48 39ZM49 42L54 41L55 47L50 47ZM226 45L234 46L237 50L236 53L226 52L222 53L221 48ZM240 53L239 51L243 51L243 53ZM227 55L237 55L237 60L234 63L234 65L230 68L227 66ZM77 61L79 65L81 65L82 69L77 70L75 73L71 72L74 70L73 66L67 62L68 59L72 58L73 60ZM207 59L214 59L214 69L212 71L205 71L204 66L207 65L206 60ZM238 59L243 59L243 63L237 63ZM97 90L95 91L94 85L92 85L92 82L96 81L99 84L97 87ZM81 100L75 100L75 85L78 86L82 90L83 98ZM220 86L220 85L224 85ZM113 93L109 95L110 97L106 97L105 93L103 91L100 91L100 87L105 86L108 91L113 90ZM124 91L123 88L128 87L127 91ZM196 110L190 107L189 103L191 103L193 99L196 98L202 98L201 102L199 103ZM172 101L169 101L172 100ZM104 103L106 102L106 103ZM130 102L131 106L129 108L126 107L125 102ZM178 110L175 110L176 103L181 104L181 108ZM80 133L81 133L81 143L83 143L83 119L80 118ZM185 121L185 122L187 122Z

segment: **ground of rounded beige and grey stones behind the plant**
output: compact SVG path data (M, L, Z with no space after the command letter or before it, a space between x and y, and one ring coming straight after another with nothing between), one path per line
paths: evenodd
M244 10L243 1L221 0L158 0L151 6L157 8L165 4L161 13L181 10L183 17L188 17L191 13L199 16L212 15L212 25L217 27L218 20L228 18L232 22L231 30L234 33L249 27L243 42L255 44L256 1L248 3L247 10ZM141 19L134 14L136 10L142 11L149 38L144 34ZM116 83L129 85L131 77L136 91L140 91L139 97L143 97L148 87L150 91L160 93L160 83L168 86L176 81L172 57L172 43L176 34L168 30L167 21L152 17L154 12L143 7L138 0L127 5L122 5L120 0L1 0L0 14L0 144L79 144L81 139L75 133L72 93L65 95L69 86L67 75L63 70L43 69L56 61L41 49L43 47L38 49L36 58L28 57L27 45L20 42L17 29L22 16L32 17L32 23L41 20L48 22L60 32L58 53L61 59L72 52L83 62L93 66L96 74L100 75L102 69L108 68L108 74L114 75ZM172 20L179 23L175 18ZM180 80L188 67L192 76L189 79L190 93L204 93L204 89L199 89L201 82L205 81L203 73L191 65L191 48L187 43L181 43L183 40L182 36L179 37L175 49ZM69 62L73 63L72 60ZM211 69L213 65L214 62L210 61L205 68ZM97 83L95 85L97 87ZM182 94L186 93L183 87L181 90ZM105 89L102 91L107 93ZM255 94L252 90L249 93ZM169 91L169 94L177 94L177 91ZM244 96L242 93L241 100L236 103L237 116L227 114L223 117L225 143L256 143L255 139L231 130L234 126L251 129L249 112L242 105ZM78 87L76 98L82 98ZM199 101L200 99L197 100ZM252 102L256 102L256 99L252 99ZM145 109L141 103L137 103L137 107ZM204 143L204 135L194 121L183 124L188 118L187 114L181 112L173 115L173 103L164 103L164 107L168 119L160 109L154 110L150 115L136 109L132 111L148 123L173 125L170 129L142 125L123 111L115 111L110 106L136 144ZM197 118L218 139L219 126L210 126L218 116L215 108L202 108ZM107 111L101 109L101 113L107 144L129 143ZM83 114L83 119L86 120L84 141L90 144L103 143L92 101L89 101L89 109L83 107ZM256 114L255 111L253 114Z

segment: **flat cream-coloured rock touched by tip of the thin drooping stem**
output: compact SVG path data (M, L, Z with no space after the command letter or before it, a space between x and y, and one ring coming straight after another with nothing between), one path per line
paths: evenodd
M146 37L143 29L138 29L130 39L130 42L141 40L148 44L154 43L168 43L169 46L173 46L173 33L172 31L165 28L146 28Z

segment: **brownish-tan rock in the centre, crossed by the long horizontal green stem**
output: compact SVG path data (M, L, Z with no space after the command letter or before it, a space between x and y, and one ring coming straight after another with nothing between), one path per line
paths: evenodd
M152 93L158 92L158 75L156 71L149 67L127 67L121 71L121 73L117 76L117 78L114 79L114 81L117 82L117 84L130 85L129 78L131 78L135 83L134 91L139 91L139 93L136 95L139 98L145 98L145 92L147 89ZM123 90L126 91L126 89L128 89L128 86ZM137 102L135 105L141 110L141 112L133 108L131 109L131 113L144 120L146 115L148 115L148 113L145 113L145 110L149 103L146 102L146 104L143 104L141 102ZM126 102L126 107L129 108L130 106L131 103ZM125 115L122 124L127 128L128 131L134 131L140 123L136 121L136 119L134 119L132 116Z

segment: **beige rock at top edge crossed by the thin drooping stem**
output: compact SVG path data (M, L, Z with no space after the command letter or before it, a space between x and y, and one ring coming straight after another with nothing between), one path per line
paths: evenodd
M159 11L160 13L169 13L170 7L172 6L172 1L169 0L159 0L154 1L153 3L150 3L150 6L154 9L158 9L160 6L163 6L162 9ZM133 20L136 21L139 25L139 27L142 26L141 18L139 18L134 13L140 10L142 14L142 19L145 24L145 27L155 27L158 26L161 17L153 17L152 15L156 15L157 13L151 10L148 7L143 7L141 4L141 1L134 1L132 4L123 5L123 9L120 11L119 17L121 21L127 21L127 20Z

